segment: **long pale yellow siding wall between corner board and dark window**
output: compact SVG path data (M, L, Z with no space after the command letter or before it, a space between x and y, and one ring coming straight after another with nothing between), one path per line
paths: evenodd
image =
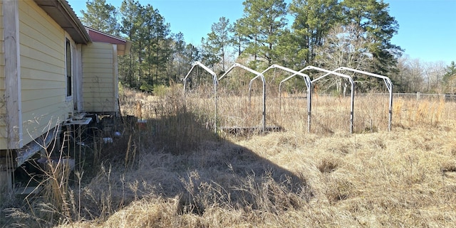
M19 1L24 145L73 111L73 100L66 97L65 35L34 1Z

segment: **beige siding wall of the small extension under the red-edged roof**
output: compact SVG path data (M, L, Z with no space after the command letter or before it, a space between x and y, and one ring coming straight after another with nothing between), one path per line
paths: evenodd
M117 112L117 51L93 42L82 48L84 112Z

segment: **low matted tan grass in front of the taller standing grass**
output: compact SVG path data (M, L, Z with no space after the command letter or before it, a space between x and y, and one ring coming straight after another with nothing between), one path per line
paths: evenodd
M138 170L125 174L128 181L139 179L149 186L146 197L102 223L95 219L72 225L452 227L456 148L447 139L453 137L455 131L423 127L355 136L286 132L237 141L239 147L206 145L187 156L149 154ZM306 185L294 192L264 173L256 173L258 178L252 173L231 175L224 171L230 164L259 168L257 158L252 162L227 155L232 150L252 152ZM236 202L233 197L239 192L255 198Z

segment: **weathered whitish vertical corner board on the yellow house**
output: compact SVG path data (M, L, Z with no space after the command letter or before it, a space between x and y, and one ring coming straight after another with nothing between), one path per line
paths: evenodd
M21 148L21 62L19 53L19 1L3 1L5 98L8 147Z

